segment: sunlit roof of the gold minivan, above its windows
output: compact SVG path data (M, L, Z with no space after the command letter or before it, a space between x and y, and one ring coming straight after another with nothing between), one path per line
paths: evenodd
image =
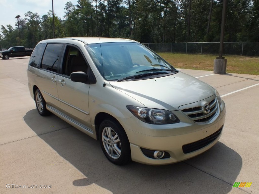
M99 37L67 37L67 38L56 38L54 40L60 40L60 39L78 40L78 41L84 42L85 44L105 43L105 42L136 42L134 40L129 40L129 39L99 38ZM53 40L53 39L49 39L49 40Z

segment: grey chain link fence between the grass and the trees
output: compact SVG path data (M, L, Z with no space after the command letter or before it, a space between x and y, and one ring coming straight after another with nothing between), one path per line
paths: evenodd
M156 53L219 54L219 42L143 43ZM259 42L224 42L224 55L259 56Z

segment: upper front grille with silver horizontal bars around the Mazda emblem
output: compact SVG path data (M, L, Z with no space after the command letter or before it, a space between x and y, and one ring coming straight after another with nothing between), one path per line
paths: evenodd
M207 121L210 121L218 111L218 104L217 104L217 98L215 97L210 103L210 112L205 113L204 107L193 107L193 108L187 108L183 109L183 113L187 115L193 122L195 123L204 123Z

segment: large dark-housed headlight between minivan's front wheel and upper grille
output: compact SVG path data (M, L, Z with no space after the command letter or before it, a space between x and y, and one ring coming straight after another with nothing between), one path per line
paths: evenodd
M127 105L127 109L131 111L135 117L145 123L163 125L180 122L177 116L168 110L136 107L131 105Z

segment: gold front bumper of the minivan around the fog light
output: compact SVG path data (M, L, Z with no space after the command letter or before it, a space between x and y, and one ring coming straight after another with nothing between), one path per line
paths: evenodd
M221 107L222 108L224 107L224 108L220 111L220 114L213 122L209 124L202 124L202 125L195 125L193 123L193 126L186 127L188 130L185 130L184 128L182 128L182 134L179 133L179 129L176 129L175 130L176 135L159 136L161 133L157 132L157 135L153 136L153 135L146 135L146 134L137 132L136 130L127 129L127 127L124 126L128 139L130 141L132 160L136 162L144 163L144 164L149 164L149 165L165 165L165 164L186 160L205 152L206 150L210 149L213 145L217 143L217 141L219 140L222 134L222 130L219 130L219 129L221 127L223 128L223 125L225 122L225 113L226 113L225 104L222 105ZM134 119L134 118L131 118L131 119ZM194 130L190 131L189 129L192 129L192 127ZM199 130L197 130L197 128ZM171 129L171 131L174 131L174 129ZM186 131L188 132L186 133ZM200 147L198 147L198 149L195 149L195 148L193 149L195 151L186 153L186 146L184 145L189 144L187 147L190 150L192 150L192 146L197 146L197 143L198 144L199 142L204 143L204 141L207 141L207 139L211 139L208 136L211 136L212 134L217 134L217 136L208 144L205 144L203 146L199 145ZM196 145L191 144L196 141L199 141L196 143ZM185 147L184 148L185 151L183 151L183 146ZM152 159L144 155L140 148L146 148L149 150L157 150L157 151L165 151L170 154L170 158Z

